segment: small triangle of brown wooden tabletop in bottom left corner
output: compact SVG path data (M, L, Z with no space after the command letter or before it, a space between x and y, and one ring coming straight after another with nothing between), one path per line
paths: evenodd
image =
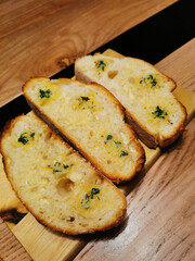
M6 224L0 217L0 260L29 261L32 260Z

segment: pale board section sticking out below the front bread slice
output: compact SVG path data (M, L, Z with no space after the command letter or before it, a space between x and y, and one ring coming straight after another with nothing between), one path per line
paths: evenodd
M84 236L66 236L44 227L30 213L12 232L35 261L67 260L87 243Z

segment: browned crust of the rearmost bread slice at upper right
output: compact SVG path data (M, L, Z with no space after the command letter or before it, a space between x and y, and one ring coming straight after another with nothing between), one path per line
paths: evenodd
M108 55L105 55L105 57L108 57ZM90 77L83 75L83 73L81 71L79 71L79 67L77 67L77 65L76 65L77 62L79 61L79 59L77 59L76 62L75 62L76 79L80 79L83 83L90 84L93 80ZM123 59L123 58L118 58L118 59ZM154 65L152 65L152 64L150 64L150 63L147 63L147 62L145 62L145 61L143 61L141 59L136 59L136 58L133 58L133 59L142 61L142 62L148 64L150 66L155 69L158 73L164 75L167 78L168 82L171 82L172 83L172 88L170 90L171 92L177 88L176 82L172 78L170 78L169 76L167 76L164 73L161 73L160 71L158 71ZM176 132L171 136L162 137L162 138L160 138L158 135L154 135L154 134L150 133L147 127L144 126L143 124L141 124L139 122L139 120L135 119L132 115L132 113L127 110L127 108L125 108L126 122L134 129L138 138L142 142L144 142L148 148L156 149L157 146L159 146L161 148L166 148L166 147L170 146L172 142L174 142L182 135L182 133L184 130L184 127L186 125L186 115L187 115L186 114L186 109L176 97L174 97L174 99L178 101L178 103L180 104L181 109L183 110L184 119L183 119L181 124L178 126L178 128L176 129Z

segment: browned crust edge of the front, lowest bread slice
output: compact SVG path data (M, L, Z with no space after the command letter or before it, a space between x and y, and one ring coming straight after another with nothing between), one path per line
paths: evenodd
M9 135L10 134L10 130L12 129L13 125L15 124L16 121L18 121L21 117L23 117L24 114L22 114L21 116L17 116L16 119L8 122L3 128L3 130L1 132L0 134L0 152L2 154L2 161L3 161L3 166L4 166L4 172L6 174L6 177L11 184L11 187L12 189L14 190L14 192L16 194L17 198L22 201L22 203L25 206L25 208L36 217L37 221L39 221L40 223L42 223L44 226L55 231L55 232L60 232L60 233L64 233L64 234L67 234L67 235L79 235L79 234L92 234L92 233L95 233L95 232L103 232L103 231L107 231L107 229L110 229L113 227L116 227L118 226L121 222L123 222L123 220L126 219L126 210L127 210L127 201L126 201L126 197L120 192L120 190L106 177L104 177L101 173L99 173L98 171L95 171L96 175L101 178L101 179L104 179L106 183L109 183L109 185L112 187L114 187L115 191L118 194L118 196L120 197L120 199L122 200L122 209L121 209L121 215L118 216L118 219L116 219L115 221L112 220L112 222L107 225L104 225L104 226L101 226L101 227L96 227L96 228L91 228L91 229L86 229L86 231L79 231L79 232L76 232L75 229L62 229L62 227L60 226L55 226L55 225L52 225L50 224L49 222L47 222L46 220L43 220L40 215L36 214L34 212L34 210L26 203L24 202L24 200L20 197L20 192L17 191L17 189L15 189L14 187L14 184L12 182L12 178L9 174L9 167L8 167L8 163L6 163L6 159L8 159L8 156L6 153L4 153L3 149L2 149L2 139L4 138L4 136ZM41 121L41 120L39 120ZM50 127L48 127L48 129L50 132L52 132L50 129ZM61 142L63 142L63 145L69 149L73 150L73 153L76 153L80 159L83 159L79 153L78 151L75 151L67 142L65 142L57 134L55 134L54 132L52 132L52 135L57 137ZM88 162L86 159L84 159L86 162ZM91 166L93 167L93 165L91 164ZM93 167L94 169L94 167Z

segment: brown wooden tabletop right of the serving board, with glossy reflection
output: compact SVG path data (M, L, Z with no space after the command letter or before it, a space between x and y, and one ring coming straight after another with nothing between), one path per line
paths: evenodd
M191 90L195 90L191 62L194 47L195 39L157 64L170 76L173 72L177 82ZM132 186L128 196L129 216L120 231L94 237L75 261L194 261L194 175L195 120L183 137Z

